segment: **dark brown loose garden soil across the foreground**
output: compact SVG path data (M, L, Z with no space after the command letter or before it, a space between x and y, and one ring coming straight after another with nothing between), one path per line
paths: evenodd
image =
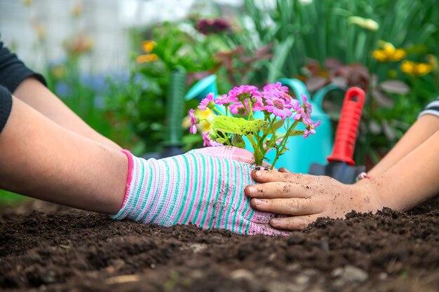
M0 291L439 291L439 197L407 213L319 219L290 237L31 202L1 212L0 236Z

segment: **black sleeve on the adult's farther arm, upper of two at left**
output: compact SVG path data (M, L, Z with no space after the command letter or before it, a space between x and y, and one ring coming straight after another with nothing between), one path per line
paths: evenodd
M14 92L15 88L30 76L39 80L43 85L46 85L46 80L44 80L41 74L37 74L27 68L25 64L21 62L15 54L5 48L0 41L0 85L7 88L9 92Z

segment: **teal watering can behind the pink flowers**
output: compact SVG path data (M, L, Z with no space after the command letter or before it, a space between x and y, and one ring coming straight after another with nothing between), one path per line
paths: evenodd
M217 92L217 77L215 74L207 76L201 81L198 81L192 88L187 92L185 96L186 100L189 99L203 99L209 92L213 92L215 97L218 95ZM290 78L281 78L278 80L283 85L291 88L297 97L299 97L299 102L302 103L302 93L309 97L309 92L306 90L306 86L302 81L298 79L290 79ZM325 163L326 158L330 155L332 151L332 127L329 116L322 109L323 97L330 90L340 89L337 85L330 84L321 88L316 92L313 96L311 103L313 112L311 114L311 118L315 121L320 120L320 125L316 130L316 134L309 135L308 138L304 139L302 136L290 137L288 139L288 144L286 145L290 150L286 151L283 155L278 158L276 162L276 168L285 167L290 170L290 172L298 172L298 173L308 173L309 167L311 163ZM224 107L217 106L220 111L224 112ZM256 113L255 118L263 118L262 113L259 113L261 116L257 116ZM304 130L302 127L298 126L296 130ZM244 137L244 139L246 139ZM246 141L247 149L252 151L253 149L250 146L250 143ZM276 157L276 151L270 151L266 154L266 158L269 162L273 162Z

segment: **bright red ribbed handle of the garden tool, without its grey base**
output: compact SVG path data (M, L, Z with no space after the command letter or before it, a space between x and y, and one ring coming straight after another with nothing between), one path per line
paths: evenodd
M360 88L349 88L344 95L342 115L340 116L332 155L327 161L341 161L355 165L353 150L355 148L361 111L363 111L365 92Z

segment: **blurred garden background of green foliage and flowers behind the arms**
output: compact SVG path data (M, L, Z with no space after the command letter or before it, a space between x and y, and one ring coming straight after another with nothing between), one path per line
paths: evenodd
M438 25L438 0L0 0L0 41L135 155L163 149L171 72L184 69L185 90L216 74L219 94L278 78L311 95L363 88L355 160L371 167L439 95ZM341 104L324 99L334 125ZM202 145L181 134L185 151Z

